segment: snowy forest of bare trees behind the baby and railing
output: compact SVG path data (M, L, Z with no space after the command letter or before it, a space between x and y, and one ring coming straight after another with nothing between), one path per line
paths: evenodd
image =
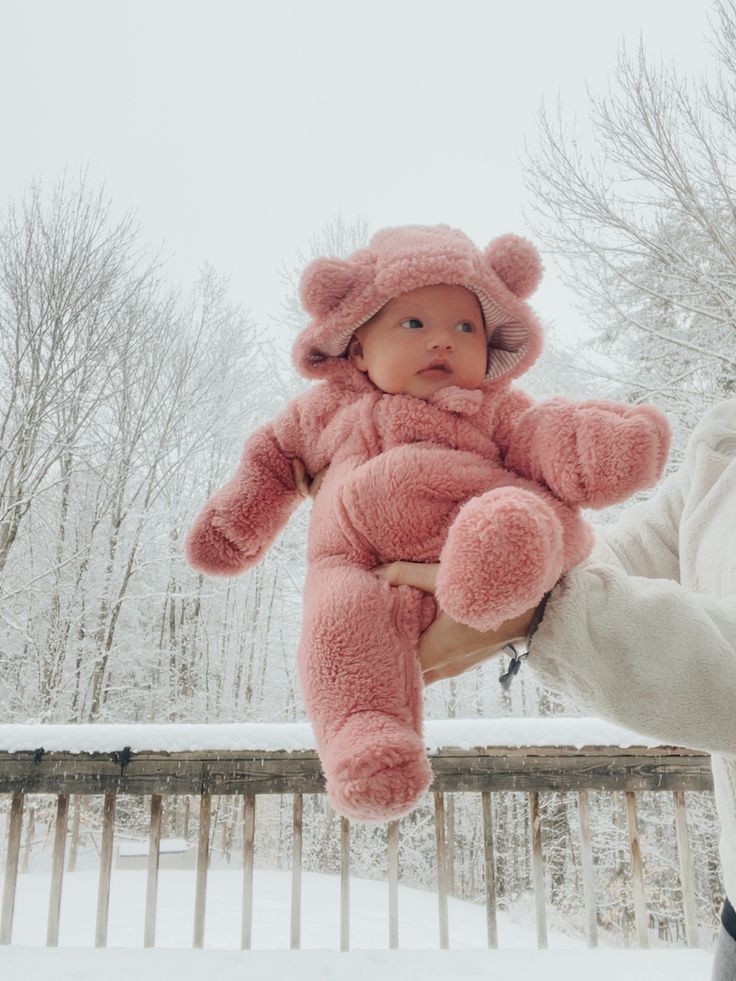
M572 350L550 329L522 387L535 398L657 405L675 431L670 470L703 411L736 396L736 3L714 10L707 78L681 77L644 43L622 48L608 92L590 97L589 131L578 133L564 107L545 106L523 161L535 240L595 339ZM314 255L352 251L370 231L345 217L285 257L282 310L256 324L214 269L174 288L145 228L117 217L84 176L32 184L10 202L0 218L3 722L304 719L295 650L309 503L237 579L192 572L182 542L247 435L304 385L289 361L304 324L301 269ZM589 517L611 521L616 510ZM577 714L528 673L504 693L500 670L491 661L432 686L426 717ZM497 890L501 903L531 908L517 796L496 802ZM83 828L99 820L98 804L84 806ZM479 809L460 795L451 806L462 856L454 891L478 900ZM631 931L623 803L592 794L591 809L607 890L599 923ZM402 844L402 878L420 885L434 881L430 817L427 804L407 819ZM143 811L123 818L132 826ZM290 818L274 802L262 860L288 863ZM545 795L543 819L550 901L582 935L572 795ZM709 930L723 898L710 795L688 796L688 819ZM50 810L36 815L49 829L51 820ZM181 815L168 820L181 830ZM337 868L335 821L321 798L305 802L305 867ZM684 942L669 795L643 795L640 822L650 913L664 940ZM213 830L223 855L239 834L235 802L223 799ZM355 829L356 874L383 875L380 847L370 829Z

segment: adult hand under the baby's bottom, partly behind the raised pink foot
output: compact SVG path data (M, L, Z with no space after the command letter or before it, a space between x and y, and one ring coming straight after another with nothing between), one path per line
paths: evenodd
M438 569L437 563L391 562L374 571L392 586L414 586L434 593ZM453 620L438 607L434 621L419 638L425 685L462 674L500 654L506 644L524 640L533 615L534 607L495 630L480 631Z

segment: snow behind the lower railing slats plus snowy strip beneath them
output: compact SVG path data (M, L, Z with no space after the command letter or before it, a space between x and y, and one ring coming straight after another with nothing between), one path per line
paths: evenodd
M518 981L706 981L711 954L703 950L587 950L582 941L550 931L549 950L536 949L533 926L500 913L499 950L485 941L481 906L451 899L449 951L439 951L437 898L400 887L399 942L387 951L386 884L351 880L349 953L338 952L339 880L305 873L302 882L301 951L289 951L291 874L256 870L253 951L240 942L242 876L213 870L207 885L204 951L192 942L194 874L165 870L159 876L155 950L142 950L145 872L115 870L107 950L94 950L97 874L79 871L64 879L60 947L45 949L49 877L27 873L18 880L13 946L0 948L0 977L18 981L405 981L513 976ZM135 949L138 948L138 949ZM185 949L175 949L185 948ZM228 949L230 948L230 949Z

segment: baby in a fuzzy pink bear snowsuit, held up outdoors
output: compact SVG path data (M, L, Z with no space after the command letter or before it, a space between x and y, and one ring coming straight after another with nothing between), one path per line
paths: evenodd
M497 627L588 555L581 506L621 501L664 468L656 409L534 403L511 386L541 350L524 302L540 276L525 240L480 252L447 226L384 229L348 259L313 262L294 360L321 383L251 436L187 537L195 568L242 572L302 500L291 461L312 476L329 466L298 667L327 792L347 817L396 818L432 776L417 644L435 601L374 570L439 561L440 607Z

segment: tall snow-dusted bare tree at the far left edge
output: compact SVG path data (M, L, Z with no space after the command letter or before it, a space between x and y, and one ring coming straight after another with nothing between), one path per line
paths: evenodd
M35 497L68 490L70 447L109 384L121 311L153 276L135 227L83 178L34 186L0 223L0 572ZM62 521L64 520L62 515Z

